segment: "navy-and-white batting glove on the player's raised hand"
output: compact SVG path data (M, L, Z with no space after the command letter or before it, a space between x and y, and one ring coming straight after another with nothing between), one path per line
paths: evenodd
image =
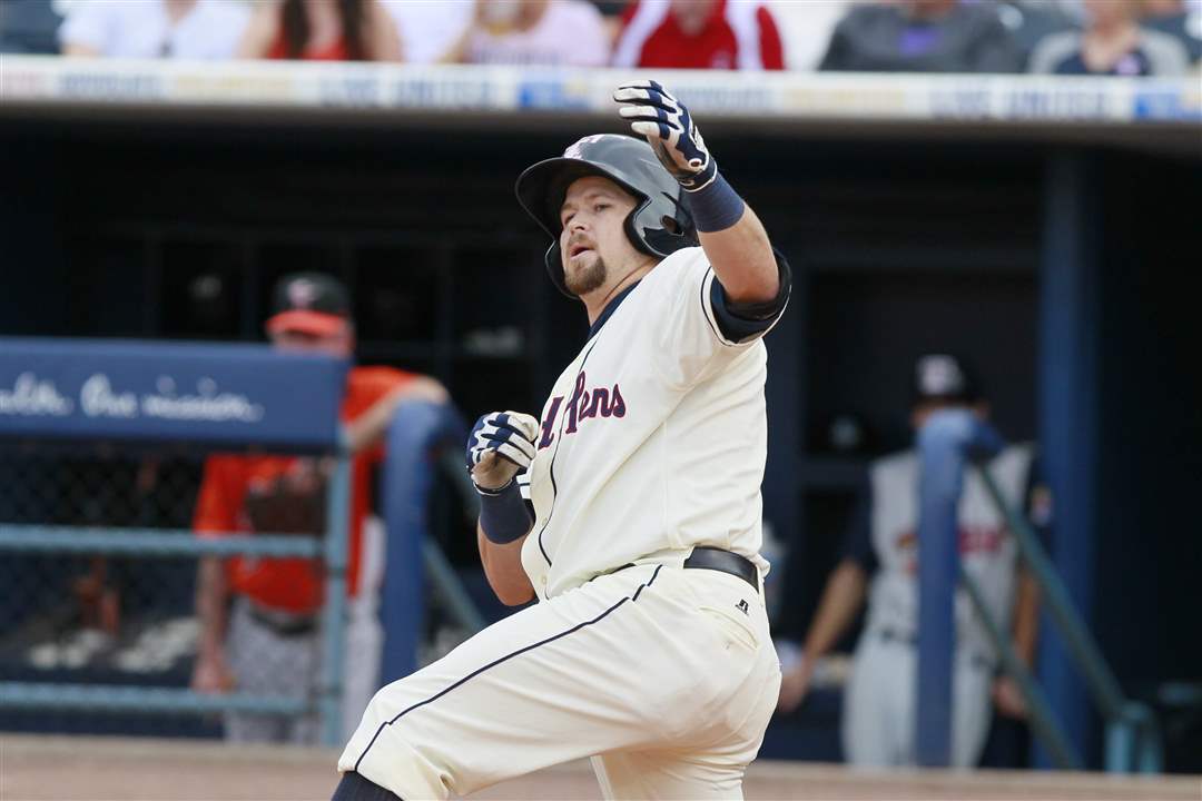
M655 80L623 84L613 92L630 130L647 137L665 169L689 192L709 186L718 163L706 149L689 109Z

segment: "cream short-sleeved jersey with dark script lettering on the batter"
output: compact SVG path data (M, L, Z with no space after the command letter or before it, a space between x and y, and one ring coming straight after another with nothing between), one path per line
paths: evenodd
M767 573L767 351L722 334L715 280L701 247L668 256L609 303L555 382L526 477L522 563L540 598L632 562L679 566L696 545Z

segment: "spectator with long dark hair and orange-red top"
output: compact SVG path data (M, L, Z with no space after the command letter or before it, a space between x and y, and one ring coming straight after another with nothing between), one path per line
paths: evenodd
M244 59L400 61L397 24L377 0L279 0L257 7Z

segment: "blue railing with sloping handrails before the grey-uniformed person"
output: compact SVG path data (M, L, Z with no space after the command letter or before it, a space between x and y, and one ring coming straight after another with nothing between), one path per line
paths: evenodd
M1155 715L1147 705L1123 693L1034 527L1006 501L989 472L987 460L1001 448L1000 435L963 410L936 412L918 435L918 543L922 554L918 567L918 760L928 766L946 766L950 759L956 635L953 597L960 585L998 652L1002 670L1017 683L1027 704L1031 730L1047 749L1052 763L1061 769L1084 769L1079 749L1057 719L1031 671L1018 657L1008 633L993 617L980 585L960 563L957 508L966 471L972 470L1014 537L1019 558L1039 585L1041 605L1106 721L1106 770L1160 772L1164 755Z

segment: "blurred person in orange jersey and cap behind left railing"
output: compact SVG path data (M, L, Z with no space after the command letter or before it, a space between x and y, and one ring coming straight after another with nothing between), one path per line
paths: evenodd
M344 358L352 354L350 299L328 275L285 276L275 287L274 309L267 321L274 347ZM346 576L352 646L365 640L370 647L374 639L379 648L379 623L371 614L379 575L370 578L375 572L365 557L377 552L365 545L373 532L382 542L379 520L370 515L373 477L383 459L383 434L398 405L406 400L445 404L447 393L433 378L392 367L356 366L347 372L341 418L353 454ZM328 460L315 458L213 455L204 465L194 528L200 537L256 531L320 537L328 473ZM313 694L320 673L322 587L321 566L309 558L203 558L196 588L201 636L192 688ZM379 660L362 658L359 647L349 647L347 653L357 658L347 660L345 715L357 721L376 689ZM225 731L237 742L314 743L319 727L315 716L230 712Z

